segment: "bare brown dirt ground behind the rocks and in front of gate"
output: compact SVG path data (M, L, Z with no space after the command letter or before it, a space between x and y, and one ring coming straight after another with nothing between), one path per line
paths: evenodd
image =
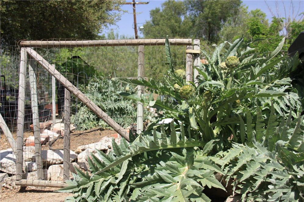
M94 130L94 129L91 129ZM71 133L71 150L75 151L77 147L85 144L91 144L95 142L99 142L100 139L104 136L110 136L110 134L116 133L113 130L101 130L98 129L96 131L87 130L87 131L79 131L76 130L73 133ZM89 132L89 133L84 133ZM83 133L83 134L80 134ZM75 135L76 134L76 135ZM13 137L16 140L16 130L13 132ZM28 136L33 135L31 131L27 131L24 133L24 139ZM1 138L0 138L0 150L5 150L11 148L5 138L5 135L3 132L1 132ZM52 149L63 149L63 138L60 138L56 140L52 146ZM48 150L49 145L42 145L42 150ZM33 190L26 188L25 190L15 189L15 190L8 190L5 188L2 188L0 191L0 201L1 202L12 202L12 201L23 201L23 202L62 202L65 200L66 197L72 196L72 193L58 193L54 192L54 190L57 190L59 188L50 188L46 187L43 190Z

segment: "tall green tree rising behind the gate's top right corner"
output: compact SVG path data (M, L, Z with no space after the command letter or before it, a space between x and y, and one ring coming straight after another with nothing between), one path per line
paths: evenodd
M219 32L226 20L236 16L241 1L186 1L189 17L194 24L193 36L209 43L219 41Z

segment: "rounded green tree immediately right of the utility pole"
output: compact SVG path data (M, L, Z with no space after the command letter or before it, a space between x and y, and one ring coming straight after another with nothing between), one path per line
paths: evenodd
M184 2L166 1L161 8L150 10L150 20L143 25L144 37L190 37L191 22Z

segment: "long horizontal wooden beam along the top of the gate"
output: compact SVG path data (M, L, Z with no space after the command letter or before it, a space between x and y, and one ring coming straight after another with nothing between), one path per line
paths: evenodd
M192 39L169 39L170 45L192 45ZM87 40L87 41L21 41L22 47L52 48L52 47L98 47L98 46L160 46L165 45L165 39L118 39L118 40Z

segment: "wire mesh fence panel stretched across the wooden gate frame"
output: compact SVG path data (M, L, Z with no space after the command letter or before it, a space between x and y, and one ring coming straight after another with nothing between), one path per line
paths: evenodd
M28 50L28 49L27 49ZM128 92L137 94L137 86L123 83L116 78L137 79L138 48L137 46L114 47L75 47L75 48L33 48L49 64L55 66L61 77L71 82L81 93L86 96L95 110L88 108L88 103L74 94L71 95L71 136L70 136L70 176L73 178L74 166L80 170L89 169L89 158L96 154L96 149L109 153L112 149L112 138L120 144L120 135L114 131L107 121L96 115L98 109L107 113L109 119L113 119L127 132L136 132L137 102L124 98L119 94ZM186 46L171 46L171 51L176 69L185 69ZM0 113L5 124L12 133L14 140L17 134L17 110L19 96L19 68L20 47L1 47ZM41 61L40 61L41 62ZM161 82L163 74L167 72L167 59L164 45L144 47L144 79L151 78ZM25 78L25 108L24 108L24 144L23 144L23 174L27 185L42 186L36 183L37 151L35 146L33 105L31 99L29 65L34 70L35 87L38 105L39 133L42 158L42 179L57 181L55 186L62 186L63 181L63 136L64 136L64 101L65 86L58 80L52 82L53 76L43 68L39 62L30 55L27 56ZM33 82L31 82L33 84ZM55 87L55 114L53 113L52 89ZM148 94L144 90L144 94ZM159 95L154 94L154 98ZM157 119L157 113L153 108L144 105L144 126ZM55 117L55 123L53 122ZM16 174L16 155L13 148L6 140L4 131L1 130L0 139L1 173L7 173L5 186L9 182L13 184ZM31 181L32 180L32 181ZM20 181L21 182L21 181ZM19 182L19 185L20 185ZM24 182L22 182L24 183ZM48 183L44 183L47 186ZM49 183L52 184L52 183ZM24 184L23 184L24 185ZM54 186L54 183L52 184Z

